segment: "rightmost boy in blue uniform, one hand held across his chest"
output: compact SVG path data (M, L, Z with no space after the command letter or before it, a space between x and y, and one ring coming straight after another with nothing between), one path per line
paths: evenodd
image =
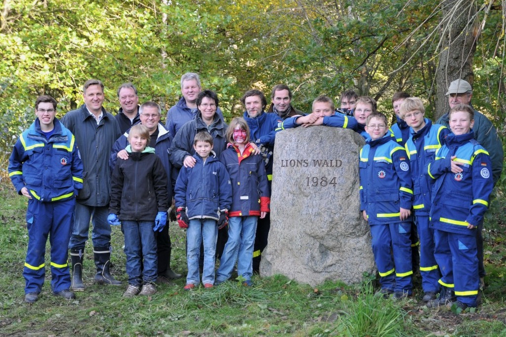
M474 139L474 110L464 104L449 113L451 132L426 174L435 179L431 223L443 286L435 305L476 307L480 280L475 231L483 222L494 185L488 152Z

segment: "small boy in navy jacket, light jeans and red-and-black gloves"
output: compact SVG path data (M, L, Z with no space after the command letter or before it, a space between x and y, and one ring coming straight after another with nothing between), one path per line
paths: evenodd
M199 283L198 261L202 240L202 283L204 288L213 287L218 229L228 224L228 210L232 202L229 174L212 151L213 136L205 131L197 133L193 148L195 166L181 168L175 188L178 223L181 228L187 228L188 276L185 290L192 290Z

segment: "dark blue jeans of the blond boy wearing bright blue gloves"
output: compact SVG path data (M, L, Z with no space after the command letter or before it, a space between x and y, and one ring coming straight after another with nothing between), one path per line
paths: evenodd
M126 273L131 285L155 282L158 275L154 221L121 221L125 235Z

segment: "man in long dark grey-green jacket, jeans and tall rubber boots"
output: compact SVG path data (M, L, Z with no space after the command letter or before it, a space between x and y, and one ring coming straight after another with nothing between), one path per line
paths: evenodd
M109 273L111 256L111 227L107 223L111 170L109 154L121 135L114 116L102 107L104 84L96 79L86 81L82 89L85 104L69 111L61 122L75 136L84 166L83 188L77 196L74 228L69 249L72 260L71 290L84 291L82 261L88 240L90 218L93 223L92 241L97 274L100 284L121 285Z

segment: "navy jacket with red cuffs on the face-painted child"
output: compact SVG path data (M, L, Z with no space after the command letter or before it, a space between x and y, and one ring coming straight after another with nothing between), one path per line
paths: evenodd
M246 145L242 156L229 143L220 161L225 165L232 181L232 206L228 212L233 216L260 216L269 212L270 192L262 156L255 156L251 145Z

